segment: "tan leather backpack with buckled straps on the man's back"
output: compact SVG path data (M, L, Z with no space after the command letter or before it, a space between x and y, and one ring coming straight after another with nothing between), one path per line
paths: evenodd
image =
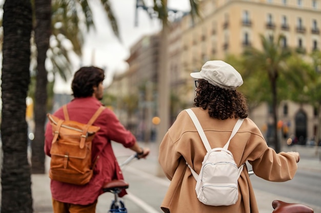
M90 181L99 157L92 163L92 139L100 129L92 124L104 109L103 106L99 107L87 124L70 121L66 105L63 106L65 120L47 114L53 133L49 170L52 180L76 185L84 185Z

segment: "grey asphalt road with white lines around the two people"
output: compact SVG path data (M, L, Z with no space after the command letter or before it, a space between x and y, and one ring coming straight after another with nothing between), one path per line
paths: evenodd
M124 161L126 156L132 154L130 150L117 144L113 147L116 155L121 156L118 158L119 162ZM123 168L125 180L130 183L129 195L124 197L130 213L162 212L159 206L170 182L164 177L155 176L158 172L157 149L155 145L150 148L151 154L147 159L134 160ZM302 159L302 163L305 162ZM310 162L307 163L311 164ZM260 213L271 213L273 200L306 204L312 207L315 213L321 213L320 177L321 170L307 170L305 167L299 167L293 180L282 183L270 182L251 176ZM107 212L111 200L112 195L110 193L102 195L98 200L97 213Z

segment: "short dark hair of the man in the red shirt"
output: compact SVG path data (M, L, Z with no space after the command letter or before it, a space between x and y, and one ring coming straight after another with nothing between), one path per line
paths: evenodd
M81 67L75 73L71 89L75 98L91 97L93 86L98 86L105 79L104 70L95 66Z

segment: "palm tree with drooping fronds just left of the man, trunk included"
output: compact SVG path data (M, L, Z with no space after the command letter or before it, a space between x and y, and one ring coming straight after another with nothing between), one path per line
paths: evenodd
M35 90L35 137L32 142L32 172L45 172L44 126L47 103L47 71L45 60L47 54L51 59L52 72L58 73L66 79L66 72L71 72L68 48L64 42L69 41L72 50L78 56L82 55L85 29L94 27L93 15L88 4L84 0L34 0L35 1L35 43L37 48L37 72ZM107 18L111 23L113 32L119 38L118 27L112 12L109 0L101 0ZM52 8L51 8L52 5ZM78 8L82 8L81 11ZM51 11L52 14L51 14ZM82 22L79 16L84 16ZM85 26L82 29L81 25ZM52 42L49 44L49 39Z

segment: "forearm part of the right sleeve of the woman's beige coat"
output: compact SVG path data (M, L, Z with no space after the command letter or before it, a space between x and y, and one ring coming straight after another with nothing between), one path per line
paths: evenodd
M274 182L291 180L297 170L294 156L286 152L277 154L269 147L257 159L249 162L255 175Z

